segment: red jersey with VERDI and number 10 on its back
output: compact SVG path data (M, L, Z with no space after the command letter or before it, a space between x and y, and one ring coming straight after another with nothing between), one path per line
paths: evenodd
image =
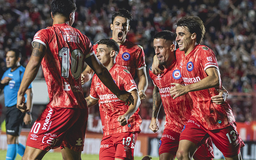
M50 98L47 106L87 108L80 77L85 58L94 54L88 37L68 24L55 24L39 30L34 42L46 47L41 65Z

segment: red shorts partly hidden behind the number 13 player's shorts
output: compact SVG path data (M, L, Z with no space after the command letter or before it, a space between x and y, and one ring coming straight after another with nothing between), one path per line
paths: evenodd
M175 157L179 148L179 139L180 133L164 129L162 138L159 141L159 155L162 153L170 153ZM212 158L214 158L211 139L207 141L207 144L197 149L193 158L195 160L212 160Z

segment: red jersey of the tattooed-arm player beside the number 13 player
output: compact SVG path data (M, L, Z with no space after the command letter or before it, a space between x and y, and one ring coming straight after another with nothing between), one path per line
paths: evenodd
M164 128L181 133L184 125L191 116L193 102L188 94L177 97L174 100L171 97L170 88L174 86L171 83L184 84L181 78L179 64L174 60L168 68L164 69L164 73L161 75L154 75L150 69L149 76L153 80L154 85L158 87L164 106L166 115Z

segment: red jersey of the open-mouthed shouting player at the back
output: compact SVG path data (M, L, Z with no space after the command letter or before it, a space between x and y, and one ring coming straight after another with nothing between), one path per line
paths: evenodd
M95 53L97 53L97 47L97 43L93 45ZM116 63L129 70L132 78L134 78L137 70L146 67L144 51L140 45L134 44L127 39L119 47L120 50L116 56Z

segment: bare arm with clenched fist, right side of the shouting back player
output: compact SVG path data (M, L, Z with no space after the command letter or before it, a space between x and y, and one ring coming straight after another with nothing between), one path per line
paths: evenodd
M148 88L148 77L147 77L146 67L137 70L137 74L139 77L138 90L139 90L140 100L144 100L146 98L145 91Z

